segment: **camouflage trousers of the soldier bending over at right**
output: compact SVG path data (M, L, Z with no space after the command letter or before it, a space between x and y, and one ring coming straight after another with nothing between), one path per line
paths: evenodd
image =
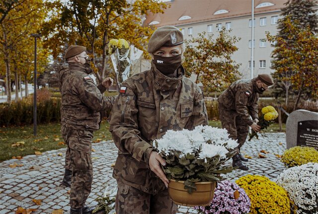
M219 104L219 118L222 123L222 128L229 132L229 137L238 140L239 150L244 145L249 126L243 122L239 114L235 110L226 110L225 107Z

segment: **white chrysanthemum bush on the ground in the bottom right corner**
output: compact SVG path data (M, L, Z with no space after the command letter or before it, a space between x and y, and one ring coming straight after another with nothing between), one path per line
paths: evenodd
M286 189L298 207L298 214L308 211L318 214L318 163L310 162L284 170L277 177L277 184Z

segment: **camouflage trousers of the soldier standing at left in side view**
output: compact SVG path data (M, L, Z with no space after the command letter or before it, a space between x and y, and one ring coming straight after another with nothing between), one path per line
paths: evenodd
M66 168L72 170L70 206L79 209L85 205L93 181L91 140L93 132L62 127L63 138L68 145Z

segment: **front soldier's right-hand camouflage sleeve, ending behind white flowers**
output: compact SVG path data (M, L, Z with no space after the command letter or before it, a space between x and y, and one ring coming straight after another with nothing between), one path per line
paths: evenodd
M207 108L205 106L204 96L199 87L195 92L193 98L193 111L190 119L185 125L186 129L192 130L197 125L207 125L208 124L208 114Z

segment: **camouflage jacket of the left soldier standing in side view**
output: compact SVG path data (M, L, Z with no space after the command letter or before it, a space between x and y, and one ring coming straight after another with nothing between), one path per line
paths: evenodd
M104 97L106 90L96 87L85 67L76 62L63 64L59 71L62 94L61 123L77 130L99 129L100 111L111 109L114 97Z

